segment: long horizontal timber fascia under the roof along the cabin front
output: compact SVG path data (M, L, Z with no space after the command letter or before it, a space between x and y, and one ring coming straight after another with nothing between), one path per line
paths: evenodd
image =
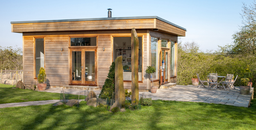
M154 19L125 19L77 22L12 24L12 32L76 31L154 28Z

